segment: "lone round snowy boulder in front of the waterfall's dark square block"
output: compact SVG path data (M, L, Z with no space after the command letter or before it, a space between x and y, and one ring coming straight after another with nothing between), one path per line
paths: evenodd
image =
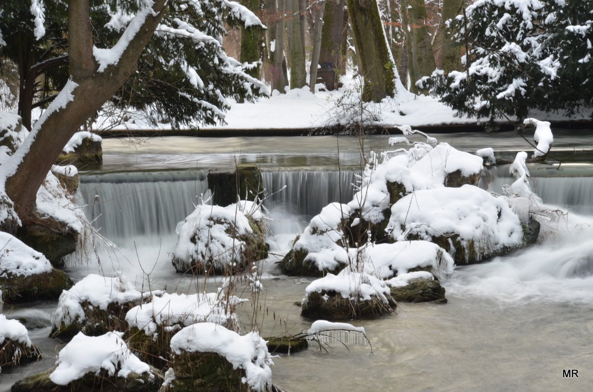
M240 201L220 207L197 205L178 226L173 252L177 272L228 274L267 257L266 232L260 205Z

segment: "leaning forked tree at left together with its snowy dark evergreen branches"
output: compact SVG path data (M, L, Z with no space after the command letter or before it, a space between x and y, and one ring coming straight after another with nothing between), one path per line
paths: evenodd
M67 30L61 34L67 31L69 78L33 124L23 145L2 165L0 181L5 183L5 192L23 222L33 215L37 189L65 144L107 101L119 105L134 100L139 109L157 118L170 117L177 123L195 120L196 116L213 122L224 115L225 94L252 96L257 89L265 89L224 53L215 38L224 32L222 21L228 17L246 25L260 23L235 2L220 0L206 6L184 1L130 0L117 2L120 7L111 9L103 2L80 0L69 2L64 13L58 15L50 14L53 8L44 7L42 1L33 0L32 4L32 17L21 23L28 25L37 41L50 31L45 30L46 20L66 21ZM93 19L95 5L110 10L107 24ZM19 44L11 34L19 30L7 29L11 12L2 11L0 50L10 53ZM102 49L97 40L101 28L119 35L108 49ZM142 57L145 49L149 56ZM142 81L142 72L152 78Z

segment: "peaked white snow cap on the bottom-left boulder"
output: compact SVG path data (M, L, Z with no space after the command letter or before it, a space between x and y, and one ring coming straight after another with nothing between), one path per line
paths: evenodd
M122 338L123 332L107 332L101 336L86 336L79 332L59 352L58 367L49 375L50 380L66 385L87 373L98 374L101 369L109 375L117 372L117 376L123 378L130 373L150 372L148 364L132 354Z

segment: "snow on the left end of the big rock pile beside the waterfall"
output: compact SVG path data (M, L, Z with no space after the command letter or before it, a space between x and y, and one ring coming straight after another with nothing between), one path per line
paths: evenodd
M346 204L330 203L321 209L321 213L311 219L292 249L308 252L305 261L317 265L319 271L333 271L339 264L348 261L347 252L338 243L344 233L342 221L350 214Z

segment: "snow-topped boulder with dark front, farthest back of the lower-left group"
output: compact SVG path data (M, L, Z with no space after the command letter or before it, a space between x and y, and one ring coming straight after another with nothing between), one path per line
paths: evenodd
M140 293L120 277L87 275L60 295L50 336L69 338L81 331L98 336L110 330L126 330L127 311L150 295Z

